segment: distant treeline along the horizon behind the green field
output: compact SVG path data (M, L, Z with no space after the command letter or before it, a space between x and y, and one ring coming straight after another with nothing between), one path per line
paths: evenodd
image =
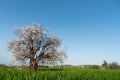
M39 68L51 68L51 66L39 65ZM10 66L5 64L0 64L0 68L29 68L29 66ZM79 68L79 69L120 69L120 65L117 62L107 63L103 61L102 65L58 65L52 66L52 68Z

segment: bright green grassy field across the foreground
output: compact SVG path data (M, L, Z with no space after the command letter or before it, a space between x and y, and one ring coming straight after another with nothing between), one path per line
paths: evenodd
M0 80L120 80L120 70L0 68Z

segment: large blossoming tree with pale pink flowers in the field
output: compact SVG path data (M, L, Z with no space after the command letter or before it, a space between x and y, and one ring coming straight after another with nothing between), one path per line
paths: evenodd
M66 58L64 50L60 50L61 39L52 37L50 32L39 24L17 27L14 31L17 39L8 42L8 48L17 61L29 63L31 70L38 68L38 63L63 63Z

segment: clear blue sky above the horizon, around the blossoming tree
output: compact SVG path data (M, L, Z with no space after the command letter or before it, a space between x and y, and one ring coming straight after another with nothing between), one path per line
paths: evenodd
M0 0L0 63L12 61L14 27L34 22L62 38L65 64L120 63L119 0Z

